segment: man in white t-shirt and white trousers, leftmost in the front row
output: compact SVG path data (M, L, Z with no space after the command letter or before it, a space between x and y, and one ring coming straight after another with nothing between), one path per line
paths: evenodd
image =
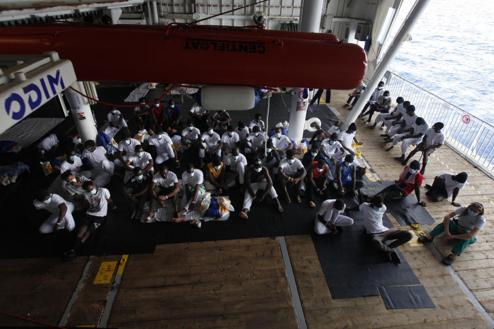
M36 209L44 209L51 212L51 215L46 221L41 224L40 233L56 232L59 229L72 231L76 224L72 213L74 212L74 204L67 202L58 194L50 194L46 190L38 190L37 197L33 200L32 205Z

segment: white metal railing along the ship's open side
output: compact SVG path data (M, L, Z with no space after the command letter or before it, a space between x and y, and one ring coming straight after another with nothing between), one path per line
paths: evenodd
M494 178L494 126L471 115L391 71L384 75L384 89L393 100L402 96L415 105L415 113L429 125L443 122L446 144Z

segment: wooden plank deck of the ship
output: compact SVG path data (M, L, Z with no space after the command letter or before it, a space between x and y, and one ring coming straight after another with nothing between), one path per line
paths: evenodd
M333 90L331 96L329 106L345 120L347 92ZM400 148L385 152L381 131L358 121L363 157L380 179L396 179L402 166L393 157L400 155ZM468 185L456 202L481 202L487 224L451 268L494 318L492 179L445 145L430 157L424 182L462 171L468 173ZM436 224L454 209L448 200L428 201L425 188L421 191ZM391 220L397 228L411 229ZM422 229L427 232L430 226ZM386 309L380 296L332 299L311 237L291 235L284 240L309 328L492 327L427 246L405 244L400 250L436 308ZM103 318L108 327L121 328L297 328L280 242L279 237L260 237L157 245L153 254L130 254L125 267L122 255L78 257L70 263L59 258L0 260L0 311L59 324L69 308L66 326L97 326ZM443 255L451 248L443 239L433 244ZM100 268L102 262L114 263ZM115 268L105 272L105 266ZM117 290L114 283L120 279ZM78 296L71 301L74 291ZM0 323L30 325L3 315Z

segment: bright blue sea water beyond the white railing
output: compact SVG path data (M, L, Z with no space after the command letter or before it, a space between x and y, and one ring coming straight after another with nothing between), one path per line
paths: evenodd
M413 3L403 1L392 35ZM389 70L494 124L494 1L431 0L411 34Z

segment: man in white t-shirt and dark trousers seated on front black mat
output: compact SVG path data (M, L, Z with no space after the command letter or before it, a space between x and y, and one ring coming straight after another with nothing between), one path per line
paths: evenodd
M371 236L372 245L384 252L390 262L400 264L401 259L395 248L412 240L412 233L407 230L390 230L382 225L382 216L386 212L386 206L380 195L375 195L371 203L364 202L359 209L364 215L365 230ZM393 242L386 245L384 242L389 240Z

